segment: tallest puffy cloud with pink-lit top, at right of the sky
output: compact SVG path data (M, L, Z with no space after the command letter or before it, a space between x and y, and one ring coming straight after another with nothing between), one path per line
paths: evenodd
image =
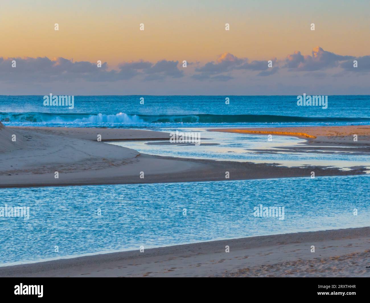
M314 71L337 67L341 61L353 58L353 56L341 56L330 53L317 46L312 50L312 56L303 56L300 51L295 51L293 54L288 55L283 67L296 71Z

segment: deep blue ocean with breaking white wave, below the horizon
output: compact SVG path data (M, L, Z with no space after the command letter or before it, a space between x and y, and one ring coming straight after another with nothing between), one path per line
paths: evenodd
M142 128L366 124L369 105L366 95L328 96L327 109L297 106L297 96L75 96L74 109L68 109L44 106L43 96L0 96L0 120L23 126Z

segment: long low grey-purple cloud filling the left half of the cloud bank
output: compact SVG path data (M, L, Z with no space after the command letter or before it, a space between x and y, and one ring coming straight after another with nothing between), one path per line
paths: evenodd
M16 67L12 67L12 61ZM0 81L97 81L110 82L129 80L134 77L142 79L179 78L183 71L177 68L178 61L161 60L157 63L148 61L124 62L118 69L108 70L106 62L97 67L97 63L75 61L65 58L3 58L0 57Z

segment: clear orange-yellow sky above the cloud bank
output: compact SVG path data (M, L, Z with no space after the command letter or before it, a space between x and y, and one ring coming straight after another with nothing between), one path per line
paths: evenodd
M114 67L139 59L205 62L225 52L282 59L317 45L342 55L370 50L367 1L3 1L2 57L102 60Z

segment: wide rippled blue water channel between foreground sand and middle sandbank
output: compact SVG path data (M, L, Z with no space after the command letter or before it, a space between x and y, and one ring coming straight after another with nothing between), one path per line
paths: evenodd
M1 189L2 207L29 207L30 217L0 217L0 263L369 226L369 178ZM259 204L284 207L284 219L255 217Z

